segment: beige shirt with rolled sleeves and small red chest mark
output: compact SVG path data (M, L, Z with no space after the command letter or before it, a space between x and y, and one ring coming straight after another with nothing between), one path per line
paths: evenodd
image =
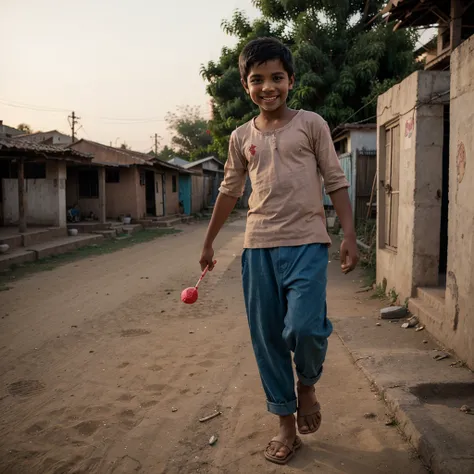
M277 130L261 132L254 119L232 132L219 191L242 196L247 174L252 194L245 248L331 243L322 180L328 194L349 183L322 117L300 110Z

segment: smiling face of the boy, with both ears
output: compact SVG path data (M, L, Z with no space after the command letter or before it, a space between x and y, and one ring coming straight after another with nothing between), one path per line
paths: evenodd
M279 59L253 66L247 80L242 79L242 85L252 101L268 112L286 104L288 91L293 89L294 83L294 76L288 77Z

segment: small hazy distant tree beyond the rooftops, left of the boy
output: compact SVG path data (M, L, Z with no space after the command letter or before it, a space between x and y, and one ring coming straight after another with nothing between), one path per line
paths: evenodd
M190 161L207 155L212 136L209 123L202 117L199 107L181 107L176 113L169 112L166 120L173 135L173 155Z

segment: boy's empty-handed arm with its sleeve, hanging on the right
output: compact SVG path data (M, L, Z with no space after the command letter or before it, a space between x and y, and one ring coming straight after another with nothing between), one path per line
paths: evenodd
M344 231L344 239L341 244L341 269L344 273L349 273L354 270L359 260L352 206L347 191L349 182L339 163L331 132L326 123L319 127L316 142L316 156L324 179L324 187L331 198Z

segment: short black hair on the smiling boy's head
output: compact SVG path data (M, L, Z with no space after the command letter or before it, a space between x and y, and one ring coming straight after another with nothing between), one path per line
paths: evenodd
M239 56L240 77L247 81L253 66L279 59L288 77L295 73L293 56L289 48L276 38L257 38L247 43Z

